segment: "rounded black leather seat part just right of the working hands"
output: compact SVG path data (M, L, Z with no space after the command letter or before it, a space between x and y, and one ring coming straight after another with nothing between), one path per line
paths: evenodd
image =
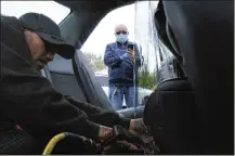
M161 154L195 154L194 112L194 91L186 78L158 83L145 106L144 121Z

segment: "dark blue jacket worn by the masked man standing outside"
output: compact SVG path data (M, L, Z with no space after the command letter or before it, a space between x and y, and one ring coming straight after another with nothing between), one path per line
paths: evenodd
M131 61L121 61L120 58L120 56L127 52L128 44L134 44L136 73L138 68L141 66L140 52L135 43L128 41L125 44L119 42L107 44L104 54L104 64L108 66L109 86L120 83L133 86L133 63L131 63Z

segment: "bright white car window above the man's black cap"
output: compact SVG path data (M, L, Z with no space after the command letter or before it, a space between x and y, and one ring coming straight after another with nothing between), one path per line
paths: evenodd
M60 24L70 9L54 1L1 1L1 14L19 17L25 13L42 13Z

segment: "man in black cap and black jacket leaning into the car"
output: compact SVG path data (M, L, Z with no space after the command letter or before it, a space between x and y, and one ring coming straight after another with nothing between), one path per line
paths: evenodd
M49 17L37 13L19 20L1 16L0 131L18 125L37 139L67 131L103 140L110 127L121 125L134 133L140 120L65 96L40 76L55 52L71 58L75 49Z

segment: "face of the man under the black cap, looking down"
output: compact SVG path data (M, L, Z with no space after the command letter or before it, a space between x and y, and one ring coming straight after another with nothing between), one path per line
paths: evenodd
M43 41L36 32L25 31L26 42L28 44L36 69L42 69L48 62L53 61L55 52L52 46Z

